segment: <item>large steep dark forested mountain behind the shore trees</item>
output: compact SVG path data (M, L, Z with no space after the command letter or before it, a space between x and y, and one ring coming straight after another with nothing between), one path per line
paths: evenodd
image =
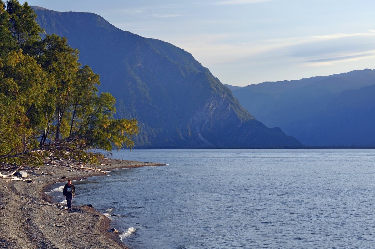
M120 30L93 13L33 7L46 33L68 38L80 62L101 75L117 117L136 118L136 147L299 146L241 107L194 57L170 43Z

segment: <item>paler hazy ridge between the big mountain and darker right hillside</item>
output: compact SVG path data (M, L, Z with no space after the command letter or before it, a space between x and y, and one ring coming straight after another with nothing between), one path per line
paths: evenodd
M372 84L375 84L375 70L365 69L302 80L264 82L233 90L233 95L255 118L267 126L281 127L305 145L351 145L344 140L340 143L330 141L330 136L324 135L327 120L322 115L330 110L343 91ZM321 126L322 129L309 129L311 126ZM341 130L338 126L324 129L330 134Z

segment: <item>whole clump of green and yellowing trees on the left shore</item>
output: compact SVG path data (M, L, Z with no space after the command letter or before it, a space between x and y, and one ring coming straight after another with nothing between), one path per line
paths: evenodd
M0 162L37 165L51 153L89 160L90 148L132 148L137 121L115 120L115 98L98 96L99 75L81 66L65 37L41 39L35 19L26 2L0 0Z

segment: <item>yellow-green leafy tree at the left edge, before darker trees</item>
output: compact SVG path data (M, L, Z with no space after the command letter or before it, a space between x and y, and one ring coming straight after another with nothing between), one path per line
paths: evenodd
M37 128L44 125L42 106L46 84L47 76L43 69L34 58L22 51L9 52L1 60L1 105L7 114L2 114L5 116L2 116L0 126L14 126L13 129L6 128L7 133L4 133L4 136L12 138L10 144L14 146L10 151L18 153L35 146Z

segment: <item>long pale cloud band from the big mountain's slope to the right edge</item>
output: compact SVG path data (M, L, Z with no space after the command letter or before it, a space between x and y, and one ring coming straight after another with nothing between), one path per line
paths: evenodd
M375 57L375 32L337 33L254 42L226 42L238 34L202 34L169 39L191 52L204 65L291 63L325 66Z

